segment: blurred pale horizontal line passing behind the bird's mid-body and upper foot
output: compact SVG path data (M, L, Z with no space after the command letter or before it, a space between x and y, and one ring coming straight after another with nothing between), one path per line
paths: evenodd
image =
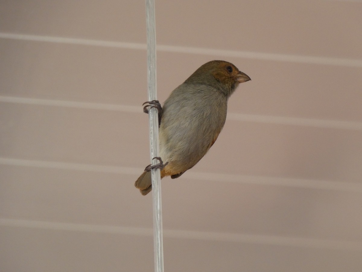
M132 112L132 113L143 112L141 106L76 102L76 101L66 101L66 100L41 99L41 98L25 98L25 97L15 97L15 96L0 96L0 102L42 105L42 106L87 108L87 109L107 110L107 111L123 111L123 112ZM355 121L338 121L338 120L309 119L309 118L297 118L297 117L285 117L285 116L237 114L232 112L227 114L227 119L236 120L236 121L255 122L255 123L296 125L296 126L362 131L362 122L355 122Z

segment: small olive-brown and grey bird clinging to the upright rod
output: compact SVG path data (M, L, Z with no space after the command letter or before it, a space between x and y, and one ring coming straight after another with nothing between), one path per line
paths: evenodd
M230 62L209 61L174 89L162 108L159 105L161 178L178 178L201 160L225 124L228 98L239 83L249 80ZM135 182L142 195L152 190L151 168Z

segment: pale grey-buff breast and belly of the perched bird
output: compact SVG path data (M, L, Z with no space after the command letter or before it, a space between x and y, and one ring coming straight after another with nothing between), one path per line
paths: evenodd
M227 101L212 93L170 98L161 118L160 155L170 167L187 170L206 154L222 130Z

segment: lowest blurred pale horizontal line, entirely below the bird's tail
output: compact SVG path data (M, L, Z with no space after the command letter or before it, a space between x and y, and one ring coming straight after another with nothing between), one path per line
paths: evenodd
M9 219L9 218L0 218L0 226L40 228L46 230L125 234L125 235L136 235L136 236L149 236L150 238L153 235L152 228L48 222L48 221L34 221L34 220ZM275 235L256 235L256 234L239 234L239 233L211 232L211 231L187 231L187 230L163 230L163 235L165 238L176 238L176 239L194 239L194 240L206 240L206 241L217 241L217 242L268 244L274 246L323 248L331 250L350 250L350 251L362 250L362 242L358 241L303 238L295 236L286 237L286 236L275 236Z

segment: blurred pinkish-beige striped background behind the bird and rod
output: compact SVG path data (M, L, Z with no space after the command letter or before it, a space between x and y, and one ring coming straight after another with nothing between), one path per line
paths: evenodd
M362 1L156 1L161 103L248 74L162 181L165 271L362 271ZM0 271L153 271L144 1L0 4Z

